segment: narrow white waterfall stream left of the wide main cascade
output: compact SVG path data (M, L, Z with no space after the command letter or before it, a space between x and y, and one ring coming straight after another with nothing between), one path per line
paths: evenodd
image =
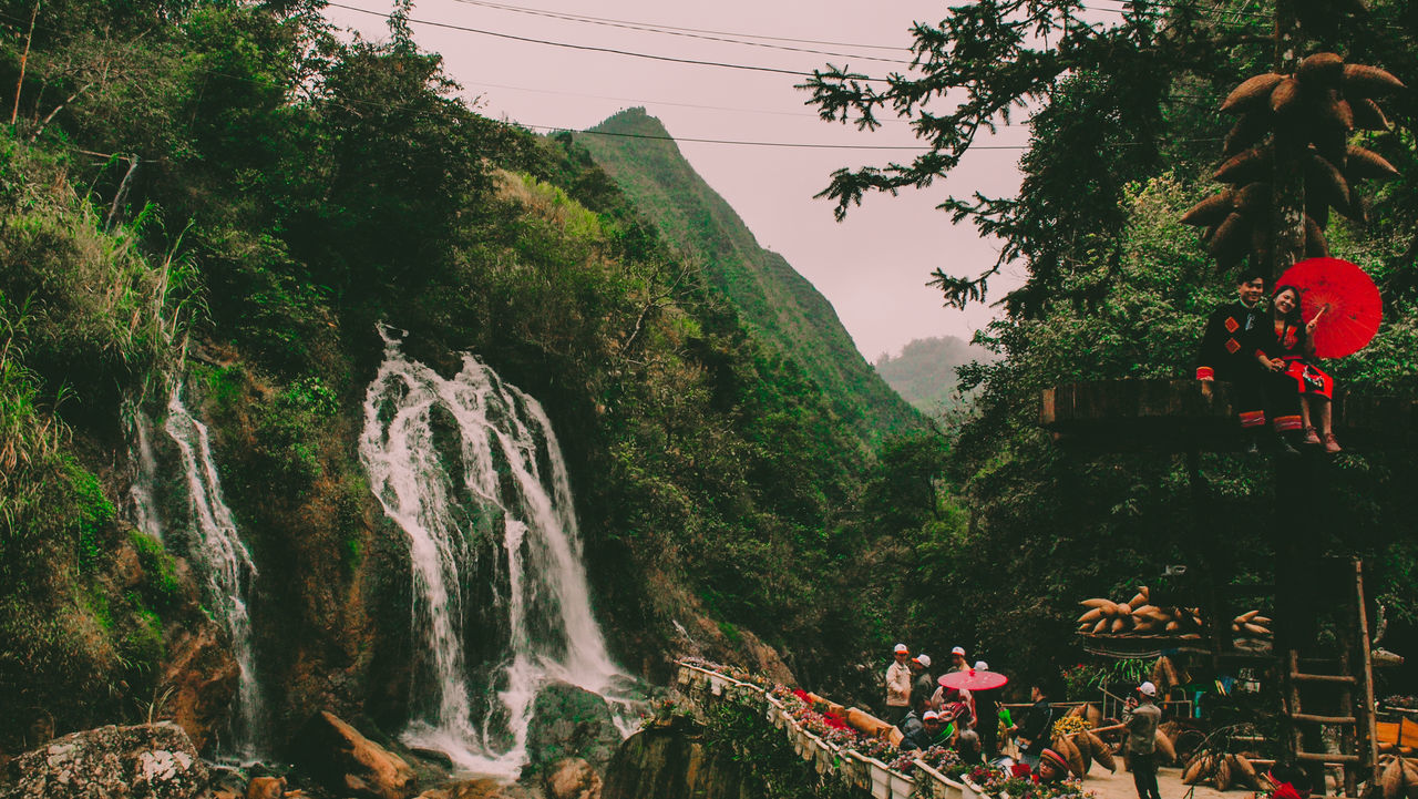
M254 761L259 755L261 685L257 683L255 653L251 644L251 616L247 599L257 576L251 552L237 535L237 524L221 495L221 478L211 457L207 426L182 402L182 387L167 400L167 434L182 454L191 512L189 555L207 578L207 610L231 636L231 650L241 667L237 684L237 712L233 741L224 742L228 755Z

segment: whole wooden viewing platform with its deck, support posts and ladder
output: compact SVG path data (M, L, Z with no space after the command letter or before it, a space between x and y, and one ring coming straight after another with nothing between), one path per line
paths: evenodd
M1093 380L1045 389L1039 424L1062 446L1083 453L1150 451L1185 453L1193 501L1207 501L1201 470L1202 451L1236 451L1246 437L1228 383L1210 380ZM1407 450L1418 444L1418 402L1407 397L1366 397L1336 393L1333 427L1346 451ZM1295 535L1305 529L1303 509L1333 502L1323 490L1327 458L1319 447L1302 447L1303 457L1278 457L1275 470L1275 524L1268 529L1273 548L1273 612L1283 624L1269 649L1242 647L1242 641L1205 630L1204 636L1181 641L1089 637L1085 649L1110 657L1153 654L1167 643L1177 649L1201 650L1219 668L1236 657L1268 660L1279 676L1283 745L1289 758L1309 766L1310 779L1323 785L1324 765L1340 764L1347 796L1360 796L1364 786L1377 785L1378 749L1374 725L1373 649L1368 636L1363 563L1354 556L1326 558ZM1212 464L1221 465L1222 464ZM1259 509L1259 508L1258 508ZM1259 515L1259 514L1258 514ZM1198 596L1214 619L1228 619L1227 596L1231 572L1215 553L1197 553L1201 566ZM1324 603L1314 602L1313 580L1305 589L1286 582L1286 575L1334 575ZM1303 653L1313 650L1320 624L1319 607L1337 636L1339 663L1329 673L1300 668ZM1210 649L1210 653L1205 653ZM1249 649L1251 651L1245 651ZM1323 688L1329 691L1324 693ZM1340 752L1329 752L1326 734L1337 737Z

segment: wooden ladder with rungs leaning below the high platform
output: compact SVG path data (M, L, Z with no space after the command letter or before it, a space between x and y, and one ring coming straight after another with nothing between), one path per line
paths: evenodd
M1324 766L1344 769L1344 795L1358 796L1360 783L1377 785L1378 739L1374 728L1374 670L1368 639L1368 617L1364 609L1364 566L1358 559L1347 559L1340 582L1344 593L1334 617L1339 639L1339 661L1324 663L1333 674L1313 673L1302 666L1316 663L1302 659L1299 651L1285 651L1282 661L1285 715L1289 718L1290 752L1297 765L1309 766L1312 778L1323 776ZM1337 702L1334 698L1337 697ZM1330 701L1324 701L1324 700ZM1306 701L1333 708L1326 712L1306 712ZM1339 752L1319 751L1322 727L1339 728ZM1310 735L1306 735L1309 729ZM1309 741L1309 746L1306 746ZM1314 795L1324 793L1320 779L1312 786Z

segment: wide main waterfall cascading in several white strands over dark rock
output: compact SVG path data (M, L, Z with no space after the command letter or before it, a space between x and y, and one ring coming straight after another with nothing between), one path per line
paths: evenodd
M591 616L562 450L542 406L472 355L444 379L408 360L387 328L380 335L384 363L366 395L359 453L374 495L408 538L414 627L437 683L437 707L404 739L445 751L465 769L515 776L542 683L608 695L627 680ZM508 646L495 670L496 707L478 722L465 580L488 536L506 559L506 595L496 603Z

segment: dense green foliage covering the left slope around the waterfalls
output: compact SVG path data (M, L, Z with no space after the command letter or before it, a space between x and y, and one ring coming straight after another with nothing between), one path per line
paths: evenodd
M31 7L0 3L0 85L16 85ZM257 562L274 727L316 707L406 718L407 551L350 444L379 321L437 368L476 352L547 409L627 664L654 671L683 623L710 654L750 660L756 633L804 673L839 667L830 641L868 634L845 590L871 549L854 522L864 441L913 412L855 352L859 373L820 379L851 343L839 326L808 341L837 322L786 264L774 285L810 308L793 348L764 343L742 321L756 311L715 288L722 272L661 238L570 138L478 116L406 28L345 38L319 9L40 6L18 121L0 135L0 400L16 441L0 475L0 695L18 697L0 708L18 731L0 746L44 714L61 729L142 715L160 688L160 630L179 619L160 595L197 589L123 534L113 464L125 420L160 421L177 385L211 427ZM183 555L176 453L155 446ZM118 552L149 588L94 568ZM85 701L98 694L111 701Z

